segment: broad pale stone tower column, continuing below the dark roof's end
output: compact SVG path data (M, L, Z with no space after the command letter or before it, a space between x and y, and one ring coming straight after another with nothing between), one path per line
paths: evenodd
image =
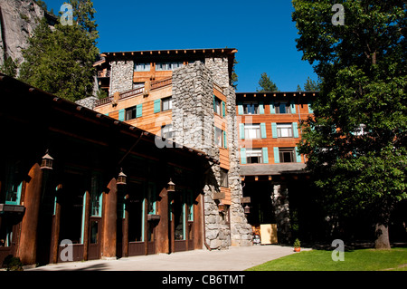
M213 78L201 62L177 69L173 73L173 134L176 143L200 149L219 159L214 143ZM211 249L231 246L227 218L219 213L219 200L213 194L220 191L221 169L213 165L204 176L205 243Z

